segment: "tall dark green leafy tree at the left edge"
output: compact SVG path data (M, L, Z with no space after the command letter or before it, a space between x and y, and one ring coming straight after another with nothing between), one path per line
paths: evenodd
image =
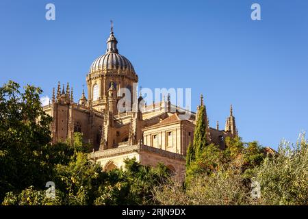
M46 159L52 118L42 110L42 90L19 88L13 81L0 87L0 200L6 192L44 186L52 171Z

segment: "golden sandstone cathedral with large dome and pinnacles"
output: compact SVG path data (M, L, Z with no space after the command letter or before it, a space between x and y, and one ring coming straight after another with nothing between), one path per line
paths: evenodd
M94 60L86 75L87 96L83 90L75 103L73 88L68 83L66 88L60 82L56 91L53 88L49 105L43 107L44 112L53 117L52 141L73 140L73 133L81 132L83 142L92 145L91 159L105 171L123 167L124 159L136 157L143 165L164 163L183 181L185 155L194 138L198 110L204 105L203 96L197 112L189 111L190 118L181 116L188 110L172 104L170 96L147 105L142 94L137 96L134 91L138 75L131 62L118 52L117 43L112 28L105 54ZM123 98L121 88L131 91L130 99L136 99L142 106L140 110L133 110L134 101L125 102L126 110L118 109ZM218 123L215 128L209 127L206 110L204 119L208 141L221 149L227 136L238 136L232 105L224 130L219 129Z

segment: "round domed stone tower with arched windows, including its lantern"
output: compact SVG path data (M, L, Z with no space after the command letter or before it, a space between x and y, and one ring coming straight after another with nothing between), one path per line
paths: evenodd
M117 44L118 40L114 36L112 27L107 39L105 54L94 60L86 77L88 102L91 103L94 110L107 109L108 90L112 82L116 93L119 93L120 88L127 88L131 92L131 99L133 98L132 90L135 83L138 83L138 75L131 62L118 53ZM121 97L118 96L118 99Z

